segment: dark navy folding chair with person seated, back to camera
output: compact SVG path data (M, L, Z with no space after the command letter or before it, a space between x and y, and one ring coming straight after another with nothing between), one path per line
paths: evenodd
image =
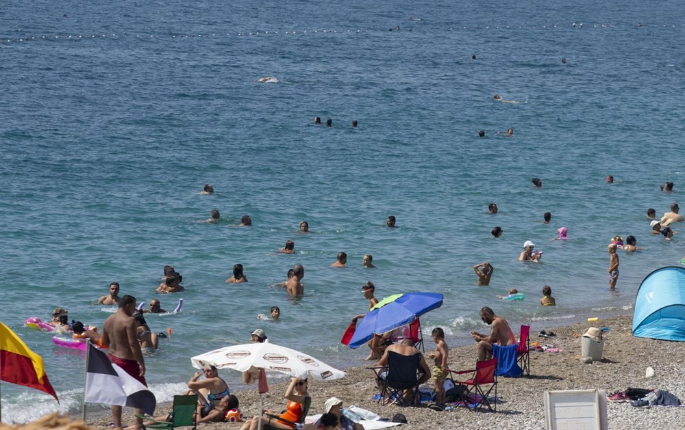
M379 403L397 402L399 406L415 405L419 399L419 379L423 375L421 354L401 355L388 352L388 366L373 369L387 369L377 372L377 382L381 390Z

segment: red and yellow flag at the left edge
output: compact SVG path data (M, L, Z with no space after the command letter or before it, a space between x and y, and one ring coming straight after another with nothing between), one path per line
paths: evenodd
M0 379L47 392L58 403L60 402L45 375L40 355L31 351L19 336L3 323L0 323Z

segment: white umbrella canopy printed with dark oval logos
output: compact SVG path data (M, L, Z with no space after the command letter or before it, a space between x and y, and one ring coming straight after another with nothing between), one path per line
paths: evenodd
M340 379L347 375L311 355L269 342L246 343L216 349L195 355L190 358L190 362L195 368L212 364L216 368L231 368L240 372L248 371L254 366L264 368L267 372L285 373L300 379L311 375L319 381Z

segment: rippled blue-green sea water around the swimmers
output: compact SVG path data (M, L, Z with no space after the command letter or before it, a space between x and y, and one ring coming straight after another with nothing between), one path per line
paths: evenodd
M630 312L640 280L685 254L679 235L651 235L645 215L683 204L684 36L676 1L10 1L1 320L42 355L61 403L2 383L3 420L77 413L82 353L23 321L62 306L101 326L114 308L92 303L113 281L166 309L184 298L181 313L148 318L173 329L146 361L160 401L183 389L192 355L257 327L329 364L361 364L367 351L338 340L366 310L369 280L379 298L443 293L422 323L425 334L443 327L449 345L487 330L482 306L533 330ZM509 127L513 137L497 135ZM672 193L659 191L667 180ZM199 194L205 183L214 195ZM202 222L212 209L220 224ZM247 214L254 225L237 227ZM385 227L388 215L399 228ZM550 241L561 226L571 239ZM619 252L610 293L614 234L644 250ZM277 254L288 239L297 253ZM526 240L545 252L539 265L516 261ZM340 251L348 267L329 268ZM376 269L362 268L364 254ZM495 273L478 287L471 267L484 260ZM224 282L236 263L247 284ZM306 295L290 299L272 284L296 263ZM154 292L168 264L185 293ZM556 308L538 305L544 284ZM495 298L511 287L527 299ZM271 306L282 319L258 321ZM236 373L222 376L238 388Z

